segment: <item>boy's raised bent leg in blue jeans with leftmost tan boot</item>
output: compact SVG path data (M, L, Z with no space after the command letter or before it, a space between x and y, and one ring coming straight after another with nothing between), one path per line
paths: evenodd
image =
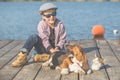
M18 58L12 63L12 66L19 67L25 65L27 63L27 55L33 47L35 47L38 53L41 53L40 51L44 51L42 41L38 35L32 35L27 39L26 43L18 54Z

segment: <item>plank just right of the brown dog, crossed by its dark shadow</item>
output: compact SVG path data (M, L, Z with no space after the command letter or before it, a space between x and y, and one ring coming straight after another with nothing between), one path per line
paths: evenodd
M80 45L83 47L84 52L87 55L89 61L92 61L95 58L95 54L99 56L98 47L94 40L81 40ZM79 74L80 76L80 74ZM81 76L80 76L81 77ZM105 69L99 71L93 71L93 73L88 75L83 75L83 80L108 80Z

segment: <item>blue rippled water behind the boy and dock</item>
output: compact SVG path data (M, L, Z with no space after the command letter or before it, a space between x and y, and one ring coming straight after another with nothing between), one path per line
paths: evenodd
M0 39L27 39L37 34L42 2L0 2ZM117 39L120 30L120 2L54 2L57 17L64 23L67 39L91 39L96 24L105 27L106 39Z

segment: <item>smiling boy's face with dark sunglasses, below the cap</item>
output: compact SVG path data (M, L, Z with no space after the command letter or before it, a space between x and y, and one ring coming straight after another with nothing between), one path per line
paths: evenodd
M54 24L56 20L56 10L50 9L46 10L42 13L42 18L45 20L48 24Z

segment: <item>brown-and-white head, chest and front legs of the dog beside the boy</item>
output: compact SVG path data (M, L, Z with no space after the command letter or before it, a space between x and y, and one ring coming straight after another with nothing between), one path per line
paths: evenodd
M89 68L86 54L80 45L67 45L66 49L71 52L63 63L59 66L61 68L61 74L68 74L69 72L83 74L90 74L91 69Z

